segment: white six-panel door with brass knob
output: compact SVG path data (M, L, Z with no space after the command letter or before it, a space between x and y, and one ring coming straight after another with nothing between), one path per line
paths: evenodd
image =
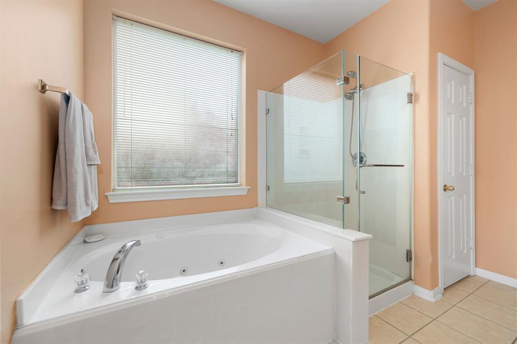
M442 66L440 241L442 287L470 275L473 260L473 75ZM472 246L472 247L471 247Z

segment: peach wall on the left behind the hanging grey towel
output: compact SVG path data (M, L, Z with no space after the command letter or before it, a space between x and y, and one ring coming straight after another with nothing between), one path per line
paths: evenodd
M82 1L0 2L1 303L7 343L14 301L83 225L50 208L59 95L83 98Z

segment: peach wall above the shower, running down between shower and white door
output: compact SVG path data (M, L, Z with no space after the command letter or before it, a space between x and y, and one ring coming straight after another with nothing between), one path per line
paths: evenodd
M339 49L406 73L414 72L415 126L415 283L437 285L437 252L431 227L431 137L429 114L429 1L391 1L329 41L326 55ZM347 67L345 66L345 69ZM436 250L437 251L437 250ZM433 267L436 265L436 268Z

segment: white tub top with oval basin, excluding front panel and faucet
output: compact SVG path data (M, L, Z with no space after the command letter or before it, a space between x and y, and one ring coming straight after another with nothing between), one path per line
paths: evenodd
M142 245L128 255L120 289L102 292L113 255L125 242L137 239ZM34 315L20 327L144 296L166 297L293 259L332 252L330 247L258 219L113 236L79 246ZM220 259L225 260L225 266L218 265ZM188 269L185 275L180 274L183 267ZM90 289L73 293L73 278L83 268L92 277ZM136 291L134 275L140 270L149 273L149 287Z

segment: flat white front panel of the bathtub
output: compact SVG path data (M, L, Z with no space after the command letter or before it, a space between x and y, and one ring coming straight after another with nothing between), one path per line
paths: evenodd
M42 321L13 344L318 343L334 338L334 255L297 259L178 294Z

